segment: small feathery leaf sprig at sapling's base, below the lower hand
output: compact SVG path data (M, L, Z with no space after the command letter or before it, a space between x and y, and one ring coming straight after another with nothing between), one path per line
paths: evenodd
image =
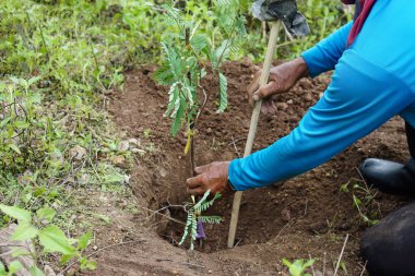
M202 199L195 202L194 196L192 195L192 204L190 204L190 208L187 209L187 221L185 227L183 236L179 242L179 245L183 244L186 239L189 239L190 250L194 249L194 241L197 239L204 239L205 233L203 229L203 223L205 224L220 224L222 221L222 217L220 216L204 216L202 212L205 212L209 207L213 205L213 203L221 199L221 194L216 193L212 200L208 200L211 191L206 191Z

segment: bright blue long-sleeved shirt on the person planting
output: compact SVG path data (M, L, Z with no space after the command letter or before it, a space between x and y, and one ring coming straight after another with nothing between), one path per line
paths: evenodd
M235 189L264 187L306 172L394 115L415 127L413 14L415 1L378 0L351 47L346 48L348 23L305 51L311 76L334 69L331 84L289 135L230 163Z

